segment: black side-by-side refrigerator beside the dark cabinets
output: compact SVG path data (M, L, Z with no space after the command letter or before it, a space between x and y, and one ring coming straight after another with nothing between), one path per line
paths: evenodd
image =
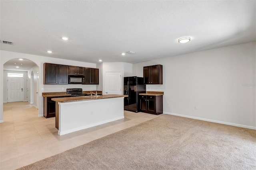
M124 110L138 112L140 111L140 93L146 93L146 84L143 77L124 77Z

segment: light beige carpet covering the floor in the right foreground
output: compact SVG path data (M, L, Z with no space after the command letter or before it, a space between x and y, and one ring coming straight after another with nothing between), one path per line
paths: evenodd
M161 115L20 170L255 170L256 130Z

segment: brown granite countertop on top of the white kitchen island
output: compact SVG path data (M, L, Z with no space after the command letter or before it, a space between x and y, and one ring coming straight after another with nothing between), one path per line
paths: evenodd
M100 96L79 96L79 97L68 97L68 98L52 98L55 102L66 103L66 102L78 102L84 100L98 100L98 99L109 99L109 98L122 98L128 97L127 95L118 95L118 94L107 94Z

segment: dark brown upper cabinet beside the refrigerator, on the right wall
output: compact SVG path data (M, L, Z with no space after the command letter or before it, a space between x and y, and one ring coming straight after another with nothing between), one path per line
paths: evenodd
M144 84L163 84L163 66L153 65L143 67Z

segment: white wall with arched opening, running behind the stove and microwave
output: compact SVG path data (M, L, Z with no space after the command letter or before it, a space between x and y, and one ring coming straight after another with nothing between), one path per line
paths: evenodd
M15 58L24 58L31 61L34 61L39 66L39 102L38 102L38 116L43 115L43 97L42 92L66 92L66 88L83 88L83 90L96 90L96 85L48 85L44 84L44 63L54 63L54 64L64 64L64 65L74 65L74 66L82 66L82 67L90 67L96 68L96 64L94 63L85 63L79 61L71 61L64 59L56 59L51 57L44 57L38 55L29 55L23 53L14 53L10 51L0 51L0 94L3 94L3 84L4 84L4 76L3 76L3 65L10 59ZM34 72L34 75L37 73ZM64 90L62 90L62 87ZM42 91L44 88L44 91ZM0 95L0 123L3 122L3 95Z

